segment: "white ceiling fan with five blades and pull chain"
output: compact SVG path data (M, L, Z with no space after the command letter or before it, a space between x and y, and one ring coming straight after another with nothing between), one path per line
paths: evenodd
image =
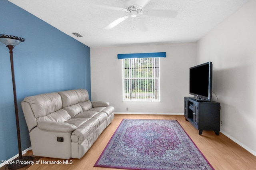
M144 24L143 19L140 16L156 16L156 17L168 17L168 18L175 18L178 14L177 11L173 10L146 10L144 11L143 8L146 6L151 0L128 0L124 4L124 8L117 7L117 6L110 6L106 4L95 4L97 7L105 8L109 10L118 10L121 12L125 12L126 15L120 17L110 24L108 24L104 29L110 30L126 20L129 16L132 17L133 21L137 22L137 26L140 30L146 31L146 26Z

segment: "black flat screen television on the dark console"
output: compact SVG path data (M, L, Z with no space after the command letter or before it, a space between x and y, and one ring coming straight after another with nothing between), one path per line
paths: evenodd
M189 94L196 100L210 101L212 99L212 62L190 67Z

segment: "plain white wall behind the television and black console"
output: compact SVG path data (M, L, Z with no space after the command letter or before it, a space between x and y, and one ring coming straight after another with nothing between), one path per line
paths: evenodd
M198 42L198 63L212 61L221 131L256 155L256 1Z

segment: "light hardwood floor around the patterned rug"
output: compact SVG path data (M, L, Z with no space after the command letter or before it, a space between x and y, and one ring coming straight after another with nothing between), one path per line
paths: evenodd
M203 131L198 134L189 122L185 121L184 115L124 115L116 114L112 123L102 132L88 152L80 159L72 158L63 164L62 159L43 157L40 161L62 161L62 164L34 164L29 170L116 170L112 168L93 167L106 144L114 134L122 119L176 119L184 128L196 146L200 149L206 159L216 170L252 170L256 169L256 156L233 142L231 139L220 133L216 136L214 131Z

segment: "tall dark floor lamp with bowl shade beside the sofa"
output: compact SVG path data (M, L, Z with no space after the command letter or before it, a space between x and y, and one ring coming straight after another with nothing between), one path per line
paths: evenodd
M16 85L15 85L15 77L14 77L14 65L13 65L13 55L12 49L15 45L24 42L24 38L20 38L17 36L8 36L4 34L0 34L0 42L7 45L9 48L10 59L11 59L11 69L12 69L12 87L13 87L13 97L14 97L14 107L15 107L15 117L16 117L16 128L17 128L17 138L18 138L18 149L19 149L19 158L15 159L14 164L8 164L8 169L18 169L24 166L27 166L32 162L32 156L23 156L21 151L21 142L20 142L20 123L19 123L19 115L18 115L18 104L17 104L17 95L16 95Z

